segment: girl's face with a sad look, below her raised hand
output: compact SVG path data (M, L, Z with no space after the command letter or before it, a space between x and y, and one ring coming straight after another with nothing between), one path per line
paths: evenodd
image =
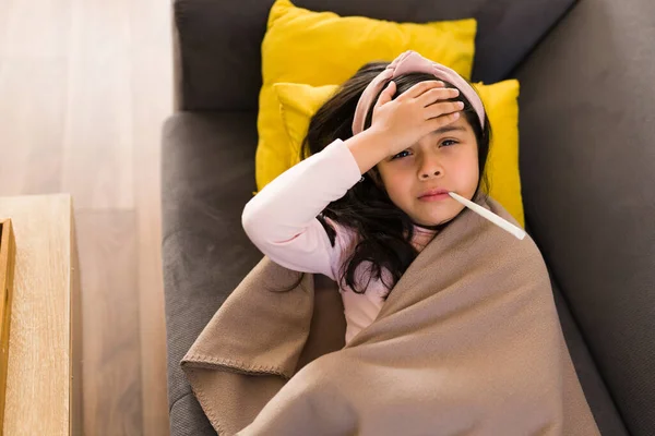
M422 137L412 147L378 164L391 201L417 225L436 226L464 206L450 195L422 196L446 190L472 198L479 181L477 141L465 117Z

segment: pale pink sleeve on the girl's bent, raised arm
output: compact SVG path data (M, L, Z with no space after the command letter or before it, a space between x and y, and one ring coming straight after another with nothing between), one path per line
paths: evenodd
M352 233L326 219L336 231L332 246L317 216L360 178L355 157L343 141L336 140L279 174L252 197L241 216L243 230L276 264L336 280Z

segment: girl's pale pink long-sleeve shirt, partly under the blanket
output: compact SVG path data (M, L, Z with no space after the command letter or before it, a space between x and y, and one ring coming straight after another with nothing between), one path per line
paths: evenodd
M324 218L336 232L332 246L317 217L333 201L343 197L361 178L347 145L336 140L278 175L246 204L241 217L243 230L252 243L273 262L286 268L318 272L340 283L346 317L346 343L378 316L389 289L379 279L368 282L367 262L355 274L357 288L368 282L364 294L342 283L341 268L358 242L347 226ZM414 228L412 241L421 251L434 231ZM368 264L368 265L367 265ZM389 270L383 270L390 283ZM362 284L359 284L362 283Z

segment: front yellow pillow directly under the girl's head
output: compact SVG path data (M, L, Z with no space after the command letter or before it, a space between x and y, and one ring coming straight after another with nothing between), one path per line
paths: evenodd
M509 80L492 85L473 85L478 92L492 137L485 172L491 189L489 195L524 226L521 179L519 178L519 81ZM283 125L279 133L287 140L281 143L289 150L291 161L278 162L284 170L300 161L300 145L307 135L310 118L336 90L338 85L314 87L306 84L277 83L273 87L279 101Z

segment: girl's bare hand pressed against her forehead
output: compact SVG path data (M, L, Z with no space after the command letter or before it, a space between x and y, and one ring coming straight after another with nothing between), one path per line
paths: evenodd
M454 122L464 108L462 101L442 101L457 97L460 90L445 88L440 81L417 83L392 100L395 90L393 81L382 90L369 128L384 138L388 156L395 156L425 135Z

